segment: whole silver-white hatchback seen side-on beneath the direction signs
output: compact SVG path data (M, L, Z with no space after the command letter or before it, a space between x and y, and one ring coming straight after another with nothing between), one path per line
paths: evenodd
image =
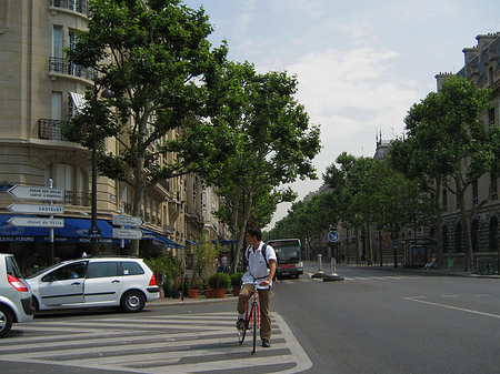
M139 312L160 297L153 272L137 257L83 257L43 269L27 282L37 311L118 306Z

